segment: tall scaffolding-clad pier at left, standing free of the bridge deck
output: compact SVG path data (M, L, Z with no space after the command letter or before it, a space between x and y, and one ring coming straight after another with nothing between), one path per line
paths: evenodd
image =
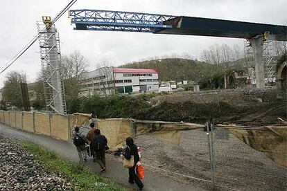
M59 34L55 25L51 25L51 17L42 17L42 22L37 22L37 30L40 33L39 45L46 109L66 114Z

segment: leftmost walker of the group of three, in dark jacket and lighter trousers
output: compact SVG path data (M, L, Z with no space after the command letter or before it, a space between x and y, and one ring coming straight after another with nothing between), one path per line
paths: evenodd
M80 163L87 161L87 140L85 135L80 132L79 127L73 129L73 144L76 145L76 149L79 155Z

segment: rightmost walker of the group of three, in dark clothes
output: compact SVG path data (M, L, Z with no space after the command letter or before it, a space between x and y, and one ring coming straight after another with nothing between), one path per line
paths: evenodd
M96 136L92 140L92 147L94 149L94 154L96 158L94 158L94 162L97 162L101 167L101 172L104 172L107 167L105 163L105 151L108 149L107 147L107 138L104 135L101 135L100 129L95 130Z

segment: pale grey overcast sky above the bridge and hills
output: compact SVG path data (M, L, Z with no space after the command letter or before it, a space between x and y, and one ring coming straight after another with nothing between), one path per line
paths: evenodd
M24 47L36 34L36 21L42 15L55 15L70 0L1 0L0 6L0 69ZM163 15L208 17L235 21L250 21L266 24L284 24L287 19L286 0L78 0L71 9L122 10L148 12ZM78 50L89 61L89 70L103 57L114 66L145 60L150 57L189 53L200 59L203 49L213 44L238 44L243 48L243 39L197 37L184 35L155 35L152 33L127 33L73 30L68 14L56 23L60 33L62 54ZM285 23L286 25L286 23ZM0 88L9 71L26 73L28 82L35 80L40 71L38 43L0 75Z

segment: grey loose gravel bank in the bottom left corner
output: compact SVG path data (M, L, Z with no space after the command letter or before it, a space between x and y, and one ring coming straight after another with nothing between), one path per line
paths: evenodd
M44 170L33 154L0 135L0 190L75 190L61 174Z

